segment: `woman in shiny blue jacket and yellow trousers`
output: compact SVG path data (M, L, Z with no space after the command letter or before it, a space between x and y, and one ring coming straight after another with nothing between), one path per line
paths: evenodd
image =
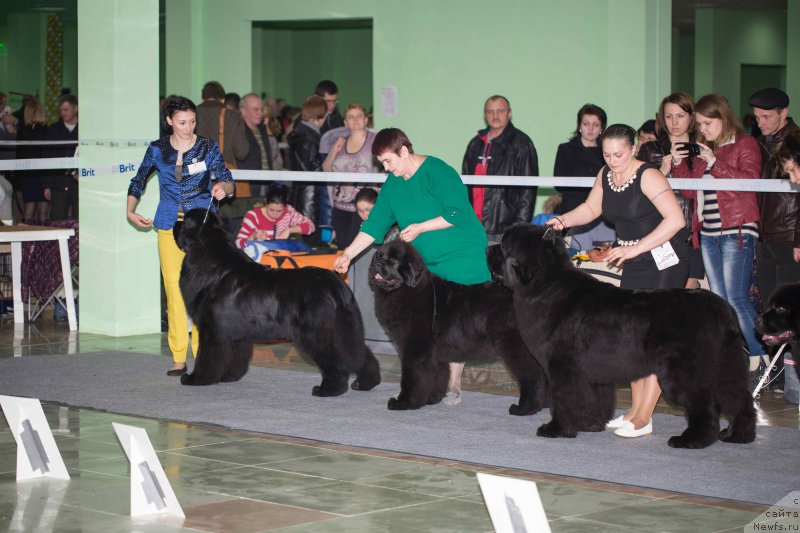
M167 124L172 134L150 143L139 171L128 187L127 216L131 224L158 231L158 256L167 295L169 348L174 364L170 376L186 373L189 347L188 321L178 280L183 252L175 244L172 228L179 217L195 208L214 209L212 199L222 200L235 190L233 176L225 167L217 143L194 133L197 108L188 98L175 98L167 105ZM136 213L147 178L158 173L161 200L154 219ZM197 356L197 328L192 328L192 354Z

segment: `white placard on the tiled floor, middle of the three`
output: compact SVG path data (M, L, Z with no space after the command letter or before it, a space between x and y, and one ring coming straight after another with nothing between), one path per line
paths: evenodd
M112 425L131 462L131 516L171 514L184 517L147 432L116 422Z

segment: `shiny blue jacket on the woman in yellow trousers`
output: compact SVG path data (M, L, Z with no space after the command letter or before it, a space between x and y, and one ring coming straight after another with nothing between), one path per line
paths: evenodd
M194 146L183 154L183 172L180 181L175 179L177 160L178 151L169 143L169 137L151 142L139 171L128 187L128 196L138 200L147 184L147 178L154 171L158 172L161 200L158 202L156 216L153 219L153 225L158 229L171 229L178 219L179 212L185 213L195 208L206 209L211 202L212 180L233 182L233 176L222 160L219 146L211 139L198 136ZM205 161L206 170L190 174L189 165L201 161Z

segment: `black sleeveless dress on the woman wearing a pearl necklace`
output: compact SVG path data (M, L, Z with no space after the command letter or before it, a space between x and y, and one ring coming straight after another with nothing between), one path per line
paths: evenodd
M642 174L648 168L658 167L643 164L636 170L636 176L622 187L613 185L611 170L604 166L603 178L603 217L617 229L617 242L628 245L647 236L658 226L663 217L650 199L642 192ZM612 188L613 186L613 188ZM625 289L680 289L686 285L689 276L689 250L678 236L670 240L675 254L680 260L664 270L658 270L650 252L625 261L622 265L620 287Z

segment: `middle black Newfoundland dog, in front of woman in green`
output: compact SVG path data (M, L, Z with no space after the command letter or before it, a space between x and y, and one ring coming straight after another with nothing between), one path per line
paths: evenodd
M445 281L400 240L375 252L369 282L378 320L400 350L400 394L389 399L389 409L439 403L447 392L450 362L488 358L502 358L519 383L519 403L509 413L542 409L544 372L519 335L512 294L502 284Z

